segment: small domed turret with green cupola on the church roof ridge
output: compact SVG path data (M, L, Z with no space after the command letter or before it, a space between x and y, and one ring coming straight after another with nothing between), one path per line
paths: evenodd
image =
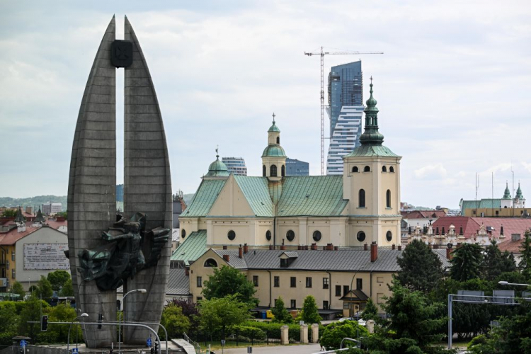
M280 181L286 175L286 153L280 146L280 129L275 124L273 113L273 125L268 130L268 146L262 154L262 176L270 181Z

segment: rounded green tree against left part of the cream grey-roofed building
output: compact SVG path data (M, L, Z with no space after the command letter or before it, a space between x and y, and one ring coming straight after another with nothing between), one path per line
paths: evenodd
M236 268L223 265L222 268L214 268L214 274L205 281L202 294L205 299L226 297L236 295L239 302L246 304L256 304L253 295L256 292L252 282L247 280L244 273Z

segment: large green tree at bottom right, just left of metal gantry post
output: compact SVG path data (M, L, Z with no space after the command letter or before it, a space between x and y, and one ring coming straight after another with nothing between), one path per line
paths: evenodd
M391 315L388 328L393 331L393 337L411 338L422 350L428 350L432 343L440 341L442 334L438 330L445 325L446 319L438 314L444 305L430 303L423 293L411 291L396 282L390 289L393 294L382 307Z

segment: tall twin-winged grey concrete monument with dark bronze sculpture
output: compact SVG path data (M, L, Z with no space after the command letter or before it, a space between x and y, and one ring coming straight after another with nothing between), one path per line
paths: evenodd
M125 69L124 215L115 215L116 70ZM142 49L125 18L125 40L110 21L94 59L74 133L68 190L68 240L78 309L91 321L116 319L116 288L132 294L125 321L161 319L169 275L171 178L159 103ZM154 325L153 329L158 330ZM89 348L116 342L110 326L84 326ZM129 328L125 343L149 332Z

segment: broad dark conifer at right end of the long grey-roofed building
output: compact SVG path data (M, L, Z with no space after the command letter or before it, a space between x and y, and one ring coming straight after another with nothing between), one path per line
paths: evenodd
M429 292L442 278L442 262L430 247L420 240L407 245L401 256L396 258L400 271L396 279L411 290Z

